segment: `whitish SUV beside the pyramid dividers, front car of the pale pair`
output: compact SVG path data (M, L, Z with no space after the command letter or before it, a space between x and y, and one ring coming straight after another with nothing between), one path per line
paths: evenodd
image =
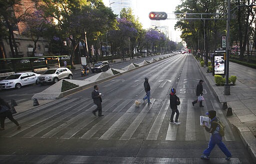
M45 71L38 77L39 84L56 83L60 79L72 79L73 74L68 68L52 68Z

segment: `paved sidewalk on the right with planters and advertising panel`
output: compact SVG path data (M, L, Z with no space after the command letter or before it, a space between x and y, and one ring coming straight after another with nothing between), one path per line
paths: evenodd
M256 163L256 69L229 62L229 77L236 76L236 83L230 86L230 95L224 95L224 86L216 86L212 73L206 73L196 61L205 76L206 83L213 89L220 103L232 108L232 116L227 120L235 127Z

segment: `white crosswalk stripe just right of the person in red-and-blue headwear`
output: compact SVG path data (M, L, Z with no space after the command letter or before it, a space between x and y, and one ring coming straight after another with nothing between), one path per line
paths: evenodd
M185 141L195 141L195 120L192 100L187 100Z

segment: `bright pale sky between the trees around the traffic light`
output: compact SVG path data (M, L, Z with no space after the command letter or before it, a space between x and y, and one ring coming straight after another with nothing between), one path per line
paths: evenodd
M102 0L105 6L109 7L109 0ZM173 13L175 7L181 4L180 0L136 0L136 8L133 8L133 14L138 16L139 21L142 23L143 28L147 29L150 27L150 19L148 14L150 11L164 11L168 14ZM173 17L173 16L172 16ZM159 20L161 26L169 26L171 32L171 40L179 42L181 41L179 35L180 31L174 30L176 19Z

